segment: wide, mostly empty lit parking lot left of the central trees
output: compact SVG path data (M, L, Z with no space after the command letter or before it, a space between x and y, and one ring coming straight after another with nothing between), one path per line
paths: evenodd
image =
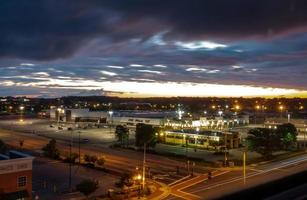
M60 139L67 142L110 145L116 141L115 128L107 125L95 126L89 123L57 123L46 119L1 120L0 127ZM134 131L130 131L134 138Z

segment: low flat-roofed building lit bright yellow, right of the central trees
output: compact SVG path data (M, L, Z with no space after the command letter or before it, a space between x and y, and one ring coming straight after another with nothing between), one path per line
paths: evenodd
M238 148L239 133L219 131L165 131L163 141L168 144L206 149Z

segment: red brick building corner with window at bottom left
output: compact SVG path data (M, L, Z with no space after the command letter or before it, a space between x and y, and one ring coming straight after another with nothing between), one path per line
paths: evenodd
M33 159L17 151L0 154L0 199L32 200Z

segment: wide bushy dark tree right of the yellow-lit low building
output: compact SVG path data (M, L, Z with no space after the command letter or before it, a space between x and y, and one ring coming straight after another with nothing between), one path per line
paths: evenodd
M262 154L265 158L271 157L274 151L280 149L280 137L273 129L254 128L248 134L248 149Z

